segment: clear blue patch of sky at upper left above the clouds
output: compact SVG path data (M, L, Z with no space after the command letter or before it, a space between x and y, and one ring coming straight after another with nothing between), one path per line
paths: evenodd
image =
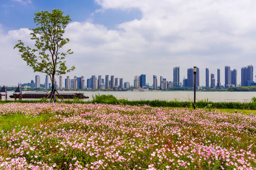
M101 9L94 0L2 0L0 6L0 24L5 32L19 28L33 28L35 12L51 11L58 8L68 14L72 21L91 21L102 24L108 29L116 29L116 25L133 19L140 19L142 14L137 9L121 10Z

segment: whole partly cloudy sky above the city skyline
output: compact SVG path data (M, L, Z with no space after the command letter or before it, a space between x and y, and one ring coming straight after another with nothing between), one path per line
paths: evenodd
M74 53L66 63L76 69L64 77L114 75L133 85L134 76L146 74L152 85L153 75L172 81L176 66L182 82L197 66L201 86L205 68L215 77L219 68L224 85L230 66L239 84L241 68L256 63L255 0L0 0L0 85L36 75L44 83L13 46L22 40L33 47L34 13L54 8L72 20L64 36Z

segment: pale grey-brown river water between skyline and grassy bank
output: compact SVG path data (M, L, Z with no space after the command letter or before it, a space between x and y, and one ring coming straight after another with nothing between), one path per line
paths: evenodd
M79 91L67 91L69 93L79 93ZM9 95L13 92L8 92L8 100L14 100L9 98ZM24 91L23 93L26 93ZM193 91L127 91L127 92L114 92L114 91L80 91L85 96L89 96L89 99L83 99L84 101L92 100L92 96L95 94L112 94L117 99L128 100L178 100L178 101L193 101ZM256 92L196 92L196 100L209 100L212 102L250 102L252 97L256 97ZM2 100L4 97L2 96ZM24 99L33 100L33 99ZM37 99L38 100L38 99Z

